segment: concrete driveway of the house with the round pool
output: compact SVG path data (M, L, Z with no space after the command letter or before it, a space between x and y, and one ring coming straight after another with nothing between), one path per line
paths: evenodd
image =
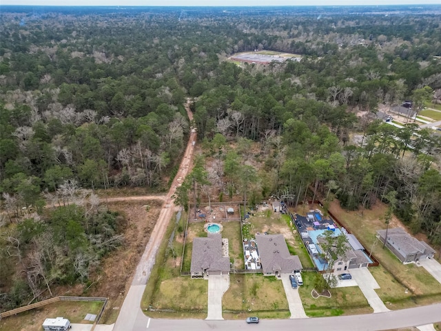
M195 280L197 281L197 280ZM208 314L206 319L222 318L222 297L229 288L229 275L208 276Z

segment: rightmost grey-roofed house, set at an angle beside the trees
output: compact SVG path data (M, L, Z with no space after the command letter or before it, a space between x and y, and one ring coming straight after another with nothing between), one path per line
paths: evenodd
M435 250L427 243L413 238L402 228L389 229L387 231L387 238L386 230L378 230L377 238L382 243L386 241L386 247L404 264L416 262L420 259L430 259L435 254Z

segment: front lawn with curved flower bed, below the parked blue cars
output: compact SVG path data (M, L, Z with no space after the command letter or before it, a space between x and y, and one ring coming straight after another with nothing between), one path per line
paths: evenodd
M303 284L299 286L303 308L309 317L329 317L338 315L369 314L373 309L367 303L358 286L331 289L331 298L311 297L316 272L302 272Z

